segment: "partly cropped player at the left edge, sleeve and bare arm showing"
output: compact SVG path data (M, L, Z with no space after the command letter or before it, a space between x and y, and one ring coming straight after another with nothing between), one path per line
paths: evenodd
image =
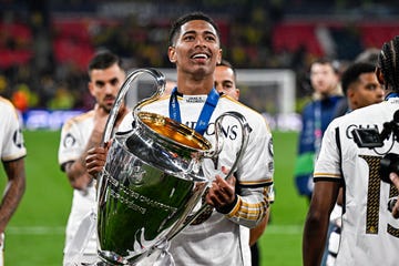
M25 190L27 150L18 113L12 103L1 96L0 113L0 157L8 178L0 204L0 266L2 266L4 231Z

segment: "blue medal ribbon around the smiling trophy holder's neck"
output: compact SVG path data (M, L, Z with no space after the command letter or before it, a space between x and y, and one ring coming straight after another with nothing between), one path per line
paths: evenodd
M206 102L201 111L198 121L196 122L194 129L196 132L198 132L202 135L205 133L209 124L211 116L216 108L219 96L221 95L217 93L215 88L213 88L206 98ZM177 86L175 86L172 90L172 94L170 99L170 117L177 121L178 123L182 123L182 116L177 101Z

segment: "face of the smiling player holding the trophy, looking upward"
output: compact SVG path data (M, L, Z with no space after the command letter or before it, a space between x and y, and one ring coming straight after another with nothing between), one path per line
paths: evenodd
M222 59L216 30L206 21L192 20L182 25L175 43L168 49L177 71L188 74L213 74Z

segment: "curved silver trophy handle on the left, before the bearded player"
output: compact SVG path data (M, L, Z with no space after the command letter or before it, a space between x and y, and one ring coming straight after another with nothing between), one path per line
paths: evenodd
M104 131L104 134L102 137L102 143L109 142L111 140L112 130L114 127L114 123L115 123L119 110L122 105L122 102L124 101L124 96L127 93L127 91L131 89L132 82L139 75L141 75L143 73L147 73L155 79L156 91L150 98L146 98L146 99L140 101L134 106L134 109L133 109L134 119L136 119L137 112L140 111L141 108L143 108L144 105L146 105L149 103L156 101L164 93L166 81L165 81L165 75L162 72L160 72L155 69L137 69L135 71L132 71L130 74L127 74L126 80L123 82L121 90L119 91L119 93L116 95L115 103L110 112L110 116L108 117L108 121L105 124L105 131Z

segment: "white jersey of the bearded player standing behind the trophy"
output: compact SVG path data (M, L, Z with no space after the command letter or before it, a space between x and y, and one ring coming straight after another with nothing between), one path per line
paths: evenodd
M59 147L59 164L64 165L68 162L78 160L83 153L90 134L93 130L94 112L90 111L68 120L62 126L61 141ZM82 219L96 208L94 185L86 191L73 190L71 213L66 224L66 237L64 252L82 222ZM96 254L96 234L90 238L84 254Z

